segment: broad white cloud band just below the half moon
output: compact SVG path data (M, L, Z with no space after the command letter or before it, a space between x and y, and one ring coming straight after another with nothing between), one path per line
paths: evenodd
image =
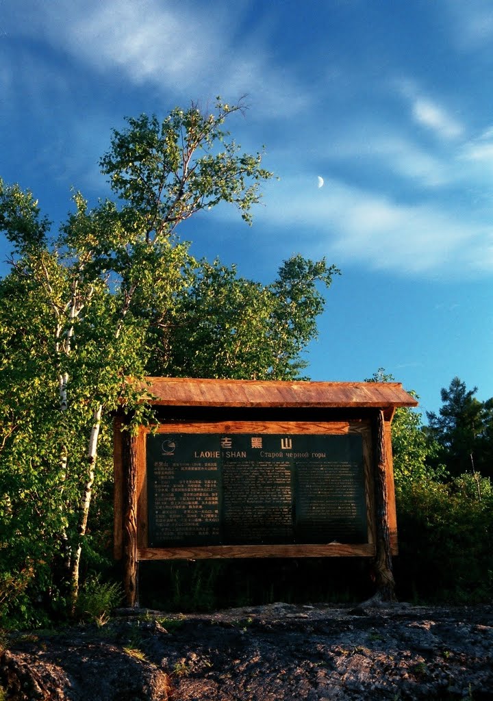
M270 184L262 224L295 224L306 254L330 254L337 261L363 261L401 274L471 275L493 271L493 226L461 221L438 205L401 204L384 196L325 178Z

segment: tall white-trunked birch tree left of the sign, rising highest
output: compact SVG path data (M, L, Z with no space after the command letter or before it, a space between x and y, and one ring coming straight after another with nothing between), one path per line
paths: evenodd
M258 186L271 177L261 167L261 154L242 154L224 131L224 121L241 109L218 100L210 113L192 104L163 121L129 118L125 130L114 131L100 161L119 203L106 200L90 210L76 193L74 215L58 236L31 193L0 184L0 229L14 247L4 311L15 310L17 317L13 324L15 317L4 313L2 326L7 355L2 400L4 411L11 412L2 446L9 463L21 457L28 429L22 428L26 414L18 411L18 400L22 395L27 404L39 383L39 402L51 426L38 426L46 449L36 442L35 459L43 465L35 472L49 472L55 489L67 495L67 503L60 503L58 533L65 541L72 599L79 588L102 418L116 404L139 398L125 381L142 377L146 362L146 323L142 309L133 314L134 298L144 303L152 287L161 309L171 308L194 267L187 246L175 238L177 226L220 202L236 205L250 222ZM20 299L25 328L15 308ZM20 391L19 363L26 369L29 355L34 376ZM42 424L41 414L36 421ZM26 459L34 459L34 451L29 453Z

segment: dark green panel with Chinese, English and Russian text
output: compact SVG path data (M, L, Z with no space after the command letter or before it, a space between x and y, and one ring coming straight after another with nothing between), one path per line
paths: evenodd
M147 437L149 547L366 543L363 439Z

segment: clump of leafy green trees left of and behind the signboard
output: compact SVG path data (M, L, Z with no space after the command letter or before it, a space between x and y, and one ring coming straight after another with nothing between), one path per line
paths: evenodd
M89 207L74 193L59 231L32 193L0 180L0 232L13 247L0 281L8 606L19 610L33 592L52 608L74 605L81 557L86 569L101 559L91 523L100 519L101 539L112 411L151 418L130 379L291 379L306 365L335 266L296 255L263 285L217 259L195 259L177 238L181 222L222 202L251 221L271 173L262 154L241 153L224 130L239 109L218 100L212 113L192 104L161 121L129 118L100 161L116 200Z

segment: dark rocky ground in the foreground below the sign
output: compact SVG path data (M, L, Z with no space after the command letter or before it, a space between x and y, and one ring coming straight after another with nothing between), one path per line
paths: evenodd
M13 635L0 685L15 701L493 699L493 606L122 611Z

